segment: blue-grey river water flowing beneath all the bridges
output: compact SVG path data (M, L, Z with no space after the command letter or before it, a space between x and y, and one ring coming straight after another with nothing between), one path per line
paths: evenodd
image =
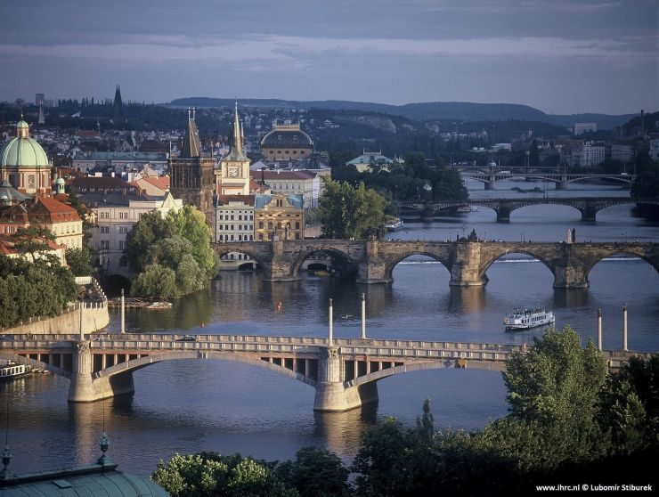
M538 183L498 183L483 191L468 183L472 198L514 196L510 188ZM544 187L543 187L544 188ZM627 193L611 187L582 187L583 195ZM569 192L568 192L569 193ZM574 195L574 191L571 192ZM543 191L541 195L565 192ZM520 196L530 194L523 193ZM433 223L408 222L391 234L403 240L454 240L472 229L494 240L659 241L659 224L631 216L631 207L606 208L595 224L562 206L533 206L497 224L480 208ZM605 348L622 346L622 303L629 309L631 350L659 350L659 275L639 259L612 257L590 273L590 289L553 289L540 262L522 254L494 263L483 288L451 288L443 265L410 257L396 266L395 281L360 285L346 279L305 276L293 283L265 283L256 273L225 272L207 291L175 303L171 311L128 311L129 330L186 333L249 333L325 336L327 302L334 298L334 334L358 337L360 298L367 298L367 336L488 343L531 343L541 330L506 332L501 321L517 306L545 306L557 326L569 324L582 337L597 338L603 313ZM118 330L113 314L111 331ZM203 326L202 326L203 323ZM69 405L69 382L35 376L0 385L9 411L10 468L22 473L86 464L99 455L103 427L110 456L125 471L148 475L175 452L241 452L266 460L294 457L306 445L322 445L351 460L362 430L385 416L411 426L426 397L436 428L481 428L507 413L500 373L470 370L415 371L378 383L379 403L344 413L313 412L313 388L272 371L223 361L158 363L134 373L135 394L105 402Z

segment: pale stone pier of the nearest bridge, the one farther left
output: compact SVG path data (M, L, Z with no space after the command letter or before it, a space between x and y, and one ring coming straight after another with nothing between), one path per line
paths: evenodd
M134 393L132 371L94 379L92 376L91 342L82 340L76 346L77 351L73 354L73 371L69 384L69 402L94 402L115 395Z

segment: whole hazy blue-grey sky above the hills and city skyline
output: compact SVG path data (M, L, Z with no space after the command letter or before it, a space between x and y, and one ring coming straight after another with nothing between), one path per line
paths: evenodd
M657 0L3 0L0 100L659 108Z

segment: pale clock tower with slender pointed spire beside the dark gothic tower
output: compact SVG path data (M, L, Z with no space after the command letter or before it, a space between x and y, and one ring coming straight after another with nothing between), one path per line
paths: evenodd
M231 148L220 159L220 174L217 178L219 195L249 195L249 159L242 151L243 138L236 102Z

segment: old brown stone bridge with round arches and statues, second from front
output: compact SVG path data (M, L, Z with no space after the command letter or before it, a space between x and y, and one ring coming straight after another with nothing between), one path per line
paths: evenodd
M404 258L432 257L451 274L450 285L484 285L487 269L500 257L521 253L537 258L554 275L554 288L588 288L588 273L603 258L640 257L659 271L659 244L641 242L551 243L509 241L426 240L273 240L212 244L218 257L241 252L261 267L265 281L296 281L307 257L323 252L342 258L354 268L357 281L393 281L395 265Z

